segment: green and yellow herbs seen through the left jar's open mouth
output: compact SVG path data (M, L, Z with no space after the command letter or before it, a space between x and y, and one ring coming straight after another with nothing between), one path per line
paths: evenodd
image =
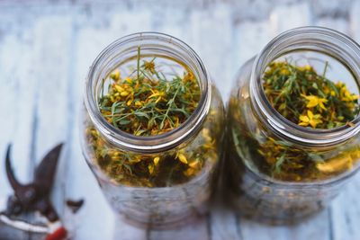
M141 64L139 49L136 77L122 79L118 70L110 76L112 84L101 95L99 109L115 128L154 136L179 127L196 109L201 92L193 73L186 68L184 76L167 81L155 61Z

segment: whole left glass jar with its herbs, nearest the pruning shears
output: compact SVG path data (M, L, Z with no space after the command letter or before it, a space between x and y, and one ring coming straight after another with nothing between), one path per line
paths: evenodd
M153 227L205 211L224 109L193 49L156 32L116 40L90 69L83 113L85 159L112 209Z

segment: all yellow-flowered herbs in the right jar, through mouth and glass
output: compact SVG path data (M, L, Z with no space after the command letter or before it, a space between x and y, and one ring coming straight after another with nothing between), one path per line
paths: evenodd
M351 120L359 113L359 96L350 93L346 84L329 80L326 77L328 69L328 62L325 62L321 75L310 65L300 67L287 60L272 62L263 76L266 97L284 118L302 127L333 129L346 124L351 126ZM316 151L300 149L269 136L257 148L257 153L266 163L260 168L285 181L327 178L352 165L352 158L345 157L345 151L329 160ZM348 156L357 154L357 148L347 151Z

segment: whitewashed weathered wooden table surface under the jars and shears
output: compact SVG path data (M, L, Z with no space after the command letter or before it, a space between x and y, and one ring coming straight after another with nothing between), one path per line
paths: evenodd
M360 41L360 1L11 1L0 0L0 209L12 193L4 154L14 144L15 173L31 181L34 166L65 141L53 201L74 239L360 239L360 175L315 218L269 227L212 209L175 231L131 227L111 209L79 147L78 111L85 74L96 55L121 36L163 31L195 49L224 100L236 70L281 31L323 25ZM73 215L66 199L85 198ZM38 239L0 225L0 239Z

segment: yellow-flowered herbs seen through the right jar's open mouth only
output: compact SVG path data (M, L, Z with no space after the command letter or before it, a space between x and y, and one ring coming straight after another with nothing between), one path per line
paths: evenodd
M359 113L359 96L347 85L334 83L309 65L295 66L287 61L271 63L264 76L266 97L276 111L303 127L333 129L349 124Z

